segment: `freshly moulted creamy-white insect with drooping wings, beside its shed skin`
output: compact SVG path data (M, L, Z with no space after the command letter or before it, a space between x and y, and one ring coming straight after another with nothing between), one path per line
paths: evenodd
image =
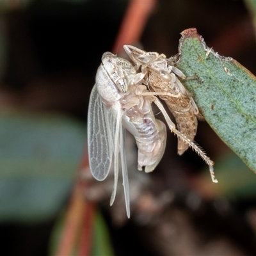
M114 156L115 182L110 205L118 182L120 152L125 206L130 216L129 182L125 158L125 129L131 132L138 146L138 170L152 172L161 160L166 146L166 126L154 117L152 95L143 95L147 87L132 64L111 52L102 56L88 109L88 154L93 177L104 180ZM159 102L159 104L161 104ZM160 105L159 105L160 106Z

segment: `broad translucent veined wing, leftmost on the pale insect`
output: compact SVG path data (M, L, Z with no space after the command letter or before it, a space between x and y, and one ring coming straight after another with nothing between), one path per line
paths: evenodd
M108 115L108 116L106 116ZM111 120L109 123L108 120ZM113 156L112 128L115 118L105 109L96 85L93 86L88 108L88 154L92 175L97 180L108 176Z

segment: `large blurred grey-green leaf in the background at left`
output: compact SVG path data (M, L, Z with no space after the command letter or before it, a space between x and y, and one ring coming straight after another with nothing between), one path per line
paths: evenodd
M65 115L1 111L0 222L54 218L72 189L86 126Z

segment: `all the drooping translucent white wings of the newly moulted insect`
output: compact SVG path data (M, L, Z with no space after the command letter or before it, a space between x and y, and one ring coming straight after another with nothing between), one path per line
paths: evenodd
M93 86L88 108L88 154L93 177L104 180L108 176L112 157L115 154L115 184L111 195L110 205L116 196L118 183L118 158L121 155L125 207L130 218L130 198L127 163L125 155L125 129L122 127L121 109L116 118L100 100L96 85Z

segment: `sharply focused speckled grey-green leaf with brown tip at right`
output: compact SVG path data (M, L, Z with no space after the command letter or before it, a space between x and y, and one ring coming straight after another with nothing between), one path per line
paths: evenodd
M256 172L256 77L232 58L207 47L196 29L182 32L177 67L205 120Z

